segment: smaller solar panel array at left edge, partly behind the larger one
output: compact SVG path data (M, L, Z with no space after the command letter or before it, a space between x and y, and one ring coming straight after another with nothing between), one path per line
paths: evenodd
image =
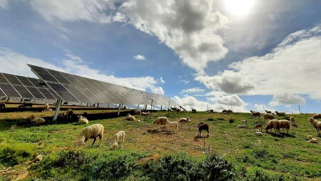
M37 78L0 73L0 97L56 100L54 95Z

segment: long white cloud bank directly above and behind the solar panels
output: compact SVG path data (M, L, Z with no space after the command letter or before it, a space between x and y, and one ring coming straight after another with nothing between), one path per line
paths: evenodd
M156 86L157 80L154 77L115 77L114 75L106 75L104 72L90 68L80 57L73 55L68 50L66 50L66 57L60 62L63 65L61 67L45 62L39 58L27 57L3 47L0 47L0 62L2 64L2 66L0 66L0 72L36 77L26 65L28 63L130 88L136 88L142 91L146 91L146 89L148 91L148 89L150 89L153 93L164 95L163 88Z

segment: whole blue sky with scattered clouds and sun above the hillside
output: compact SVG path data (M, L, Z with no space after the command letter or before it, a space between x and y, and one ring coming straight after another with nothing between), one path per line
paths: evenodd
M320 1L0 0L1 72L26 63L198 110L319 112ZM189 106L187 106L189 107Z

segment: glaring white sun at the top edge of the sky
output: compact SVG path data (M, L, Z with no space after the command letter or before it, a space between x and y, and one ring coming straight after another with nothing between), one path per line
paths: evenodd
M233 15L242 16L249 12L254 0L225 0L225 6Z

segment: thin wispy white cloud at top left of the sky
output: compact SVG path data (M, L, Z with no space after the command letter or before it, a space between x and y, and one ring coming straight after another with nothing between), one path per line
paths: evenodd
M112 16L108 11L115 10L114 1L104 0L30 0L35 11L47 21L88 21L109 23Z

